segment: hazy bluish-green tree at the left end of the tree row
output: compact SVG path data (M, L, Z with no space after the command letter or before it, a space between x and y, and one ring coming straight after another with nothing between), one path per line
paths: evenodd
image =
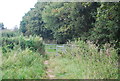
M42 11L46 3L36 3L35 8L32 8L23 16L20 23L20 30L24 35L41 35L44 39L51 39L51 30L44 27L42 20Z

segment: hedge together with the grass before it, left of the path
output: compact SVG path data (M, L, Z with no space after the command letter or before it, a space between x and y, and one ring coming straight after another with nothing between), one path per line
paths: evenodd
M45 50L41 37L25 37L4 30L0 38L3 79L41 79L45 74Z

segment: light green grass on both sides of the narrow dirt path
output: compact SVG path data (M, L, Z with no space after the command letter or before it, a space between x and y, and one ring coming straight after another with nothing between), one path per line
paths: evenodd
M36 41L38 39L33 38ZM39 44L41 45L42 42ZM36 42L37 48L40 47L39 44ZM48 67L53 70L52 74L56 76L56 79L118 78L118 56L114 48L105 45L98 51L98 47L90 42L76 41L71 44L78 45L78 47L66 46L66 52L59 50L58 56L56 56L55 49L48 49L56 48L56 45L45 45L45 50L48 52L47 59L50 63ZM22 50L19 45L18 47L15 45L14 49L9 49L10 51L7 49L7 52L2 54L3 63L0 66L2 69L0 75L3 75L3 79L44 78L46 69L43 62L46 58L41 54L41 50L30 49Z

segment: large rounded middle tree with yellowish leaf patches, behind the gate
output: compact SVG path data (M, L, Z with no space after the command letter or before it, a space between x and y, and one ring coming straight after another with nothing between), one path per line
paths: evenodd
M97 3L84 6L78 2L51 3L43 11L45 27L54 33L54 38L61 43L82 37L84 33L92 28L95 20L91 12L97 8Z

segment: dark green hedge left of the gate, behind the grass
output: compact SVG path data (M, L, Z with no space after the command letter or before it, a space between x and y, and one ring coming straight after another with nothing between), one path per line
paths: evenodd
M29 48L33 51L38 51L41 54L44 54L44 45L42 38L38 36L17 36L17 37L2 37L2 51L3 53L7 52L9 49L15 49L15 46L18 45L22 50Z

